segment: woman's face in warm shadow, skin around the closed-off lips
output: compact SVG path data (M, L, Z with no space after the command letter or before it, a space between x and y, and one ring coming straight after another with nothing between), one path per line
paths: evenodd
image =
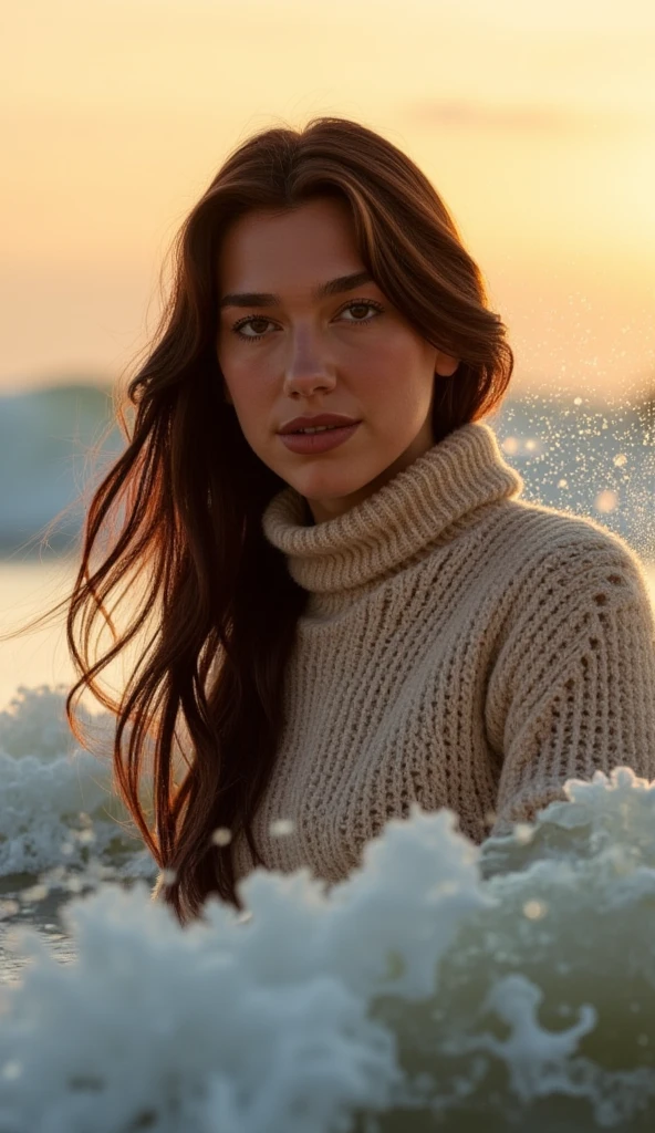
M358 273L365 267L348 205L330 197L248 213L226 233L219 257L216 353L226 394L253 451L306 497L317 523L432 448L435 372L446 376L458 365L375 283L318 293ZM244 293L256 295L239 299ZM359 424L337 448L290 451L281 427L325 412Z

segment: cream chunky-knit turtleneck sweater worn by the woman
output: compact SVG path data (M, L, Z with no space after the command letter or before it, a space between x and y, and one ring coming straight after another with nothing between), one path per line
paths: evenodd
M593 520L519 500L483 423L367 500L266 538L309 591L286 723L254 834L266 867L329 883L392 817L449 807L479 844L562 784L627 765L655 778L655 620L641 563ZM291 833L271 833L290 819ZM237 878L252 868L241 836Z

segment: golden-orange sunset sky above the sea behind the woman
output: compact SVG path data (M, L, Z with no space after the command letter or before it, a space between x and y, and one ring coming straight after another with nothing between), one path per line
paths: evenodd
M23 0L1 24L0 391L114 377L227 153L324 113L432 179L517 390L655 386L653 0Z

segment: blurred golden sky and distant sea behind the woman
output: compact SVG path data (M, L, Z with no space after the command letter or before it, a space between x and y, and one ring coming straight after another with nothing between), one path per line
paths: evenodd
M0 631L70 585L82 506L41 536L99 476L179 224L252 131L317 114L380 130L454 214L509 325L490 424L526 497L655 581L652 0L24 0L2 32ZM0 642L0 710L70 672L62 623Z

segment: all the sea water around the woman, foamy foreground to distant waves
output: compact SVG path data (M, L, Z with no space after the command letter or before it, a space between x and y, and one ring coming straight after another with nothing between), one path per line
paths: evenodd
M58 397L0 414L0 632L73 578L74 514L25 554L79 488ZM494 428L526 497L638 551L655 607L648 414L524 401ZM111 719L85 701L93 753L68 730L71 676L62 617L0 642L0 1133L655 1128L655 783L572 781L482 847L416 808L329 894L257 870L245 915L182 931L112 794Z

